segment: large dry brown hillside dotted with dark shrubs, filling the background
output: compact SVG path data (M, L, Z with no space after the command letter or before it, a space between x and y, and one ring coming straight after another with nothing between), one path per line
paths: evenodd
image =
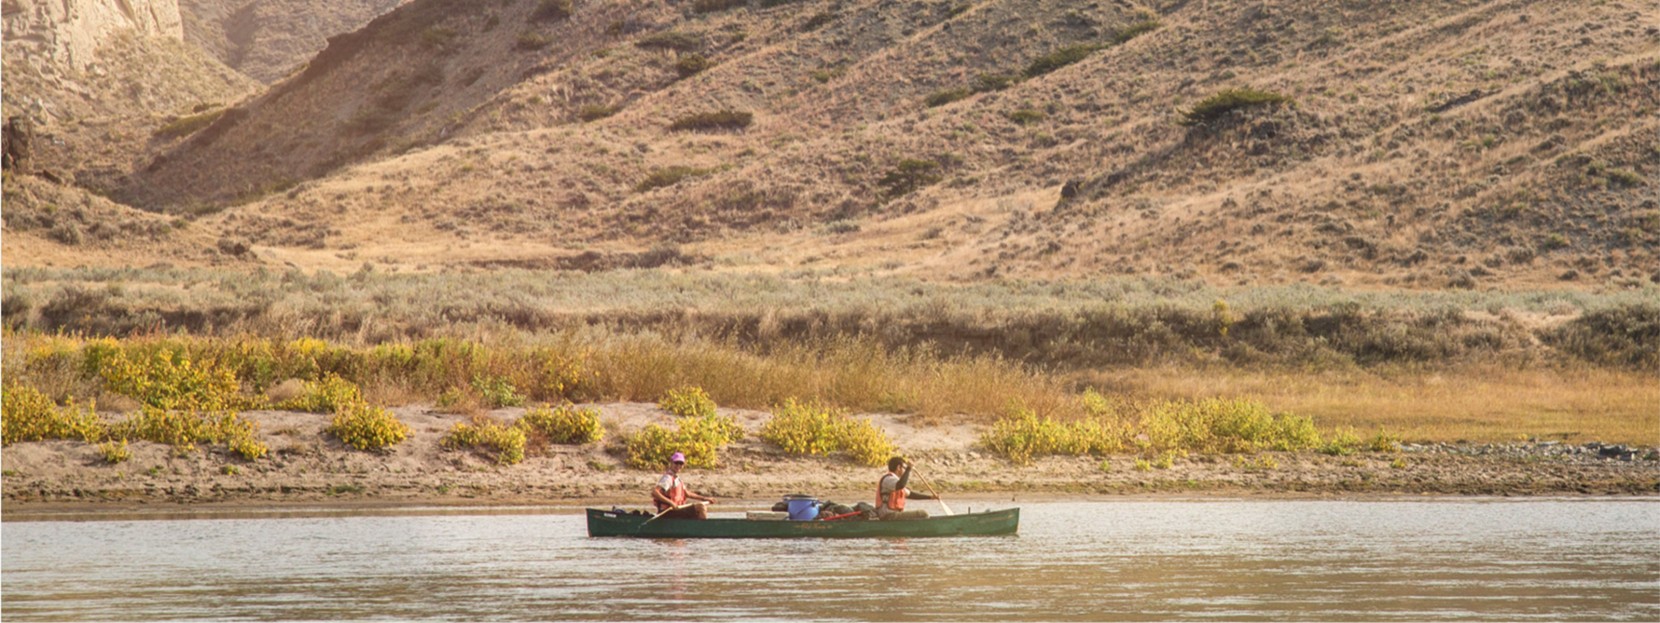
M319 267L1628 286L1657 7L415 0L115 196Z

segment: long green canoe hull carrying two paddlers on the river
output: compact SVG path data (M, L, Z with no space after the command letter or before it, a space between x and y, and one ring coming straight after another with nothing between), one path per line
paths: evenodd
M925 520L788 522L749 518L659 518L588 508L589 537L647 538L876 538L876 537L991 537L1019 530L1021 510L988 510Z

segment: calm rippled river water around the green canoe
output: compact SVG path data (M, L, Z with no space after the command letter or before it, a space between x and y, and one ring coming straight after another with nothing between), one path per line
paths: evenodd
M1019 507L1018 537L913 540L589 538L578 508L8 520L0 618L1660 620L1660 498Z

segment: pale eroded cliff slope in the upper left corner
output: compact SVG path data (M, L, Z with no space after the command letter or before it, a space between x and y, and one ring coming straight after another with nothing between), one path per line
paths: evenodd
M0 116L40 133L35 169L110 186L171 123L256 83L184 43L174 0L7 0Z

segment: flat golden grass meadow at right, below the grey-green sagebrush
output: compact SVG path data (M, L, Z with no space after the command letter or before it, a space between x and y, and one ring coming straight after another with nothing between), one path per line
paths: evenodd
M1509 442L1526 437L1653 445L1660 380L1610 369L1499 367L1429 372L1260 372L1140 367L1091 374L1114 392L1155 397L1237 395L1313 417L1321 430L1389 430L1401 439Z

